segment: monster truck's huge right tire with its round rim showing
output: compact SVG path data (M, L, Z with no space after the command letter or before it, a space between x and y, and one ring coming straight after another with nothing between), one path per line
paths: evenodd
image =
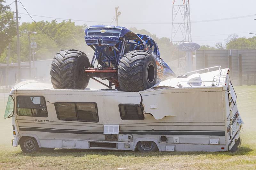
M125 53L118 66L118 82L123 91L143 91L156 84L156 60L148 51Z

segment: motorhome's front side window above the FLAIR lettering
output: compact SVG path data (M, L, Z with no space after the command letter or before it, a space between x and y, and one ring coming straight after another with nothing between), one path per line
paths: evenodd
M19 116L48 117L43 96L17 96Z

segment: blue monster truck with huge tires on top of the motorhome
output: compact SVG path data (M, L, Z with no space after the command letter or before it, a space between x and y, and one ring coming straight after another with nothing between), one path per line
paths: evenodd
M142 91L175 76L160 58L156 42L147 35L121 26L95 25L85 29L85 42L94 50L91 63L78 50L61 50L54 56L51 81L55 89L85 89L92 78L110 89Z

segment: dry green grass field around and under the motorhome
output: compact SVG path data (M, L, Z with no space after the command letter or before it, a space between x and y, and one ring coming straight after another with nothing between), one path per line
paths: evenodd
M24 154L12 147L11 119L0 118L0 169L256 169L256 86L235 87L244 120L237 152L154 152L55 149ZM3 102L2 102L3 103ZM3 105L3 104L2 104ZM2 113L4 113L2 111Z

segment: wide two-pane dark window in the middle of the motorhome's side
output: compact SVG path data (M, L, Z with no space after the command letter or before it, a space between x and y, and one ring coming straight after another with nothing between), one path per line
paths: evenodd
M59 120L99 122L96 103L55 103Z

